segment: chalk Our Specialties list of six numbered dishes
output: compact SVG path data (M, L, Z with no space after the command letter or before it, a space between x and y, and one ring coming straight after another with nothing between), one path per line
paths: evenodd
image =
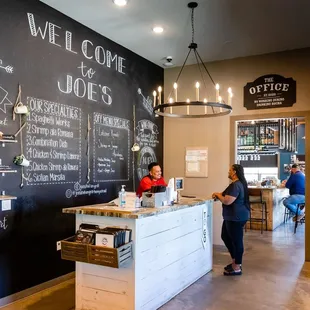
M27 97L27 185L81 180L81 109Z

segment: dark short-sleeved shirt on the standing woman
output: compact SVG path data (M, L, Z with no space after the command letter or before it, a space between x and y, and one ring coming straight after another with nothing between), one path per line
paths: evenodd
M224 220L239 222L247 221L249 219L250 212L244 199L244 188L239 180L229 184L229 186L224 190L222 195L236 197L236 200L232 204L222 204L222 214Z

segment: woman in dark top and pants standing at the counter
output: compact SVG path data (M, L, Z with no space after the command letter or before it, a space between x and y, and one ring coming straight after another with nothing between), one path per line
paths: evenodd
M212 198L222 202L221 237L232 258L232 263L224 268L224 275L235 276L242 274L243 227L249 219L250 204L243 167L232 165L228 177L232 181L230 185L222 193L213 193Z

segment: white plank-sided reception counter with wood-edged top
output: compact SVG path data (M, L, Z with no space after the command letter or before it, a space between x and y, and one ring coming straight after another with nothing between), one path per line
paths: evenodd
M121 268L76 262L76 310L158 309L208 273L212 207L211 199L183 198L173 207L63 209L76 214L77 229L81 223L132 229L133 259Z

